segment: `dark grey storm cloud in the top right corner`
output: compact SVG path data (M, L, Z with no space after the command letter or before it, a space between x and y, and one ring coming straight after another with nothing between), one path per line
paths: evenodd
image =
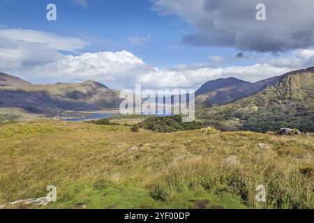
M255 7L266 6L266 21ZM156 0L154 10L177 14L198 29L183 38L194 46L284 52L314 46L313 0Z

